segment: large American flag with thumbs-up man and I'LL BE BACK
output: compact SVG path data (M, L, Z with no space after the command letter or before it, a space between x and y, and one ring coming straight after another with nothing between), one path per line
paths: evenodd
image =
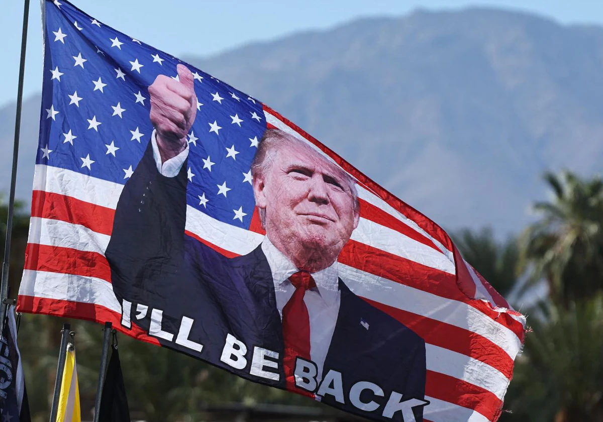
M525 318L259 99L43 2L20 312L110 321L372 420L496 421Z

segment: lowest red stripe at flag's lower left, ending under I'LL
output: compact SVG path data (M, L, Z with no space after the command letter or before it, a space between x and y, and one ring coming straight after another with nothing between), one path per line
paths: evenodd
M148 336L136 324L132 324L131 330L122 327L121 315L119 313L95 303L19 295L17 298L17 312L42 313L42 315L77 318L78 320L93 321L99 324L112 323L114 329L128 336L159 345L159 340Z

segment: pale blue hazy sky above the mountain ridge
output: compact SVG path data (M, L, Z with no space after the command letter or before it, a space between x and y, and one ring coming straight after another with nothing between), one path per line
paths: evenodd
M177 57L211 55L246 43L315 30L364 16L400 16L416 8L470 5L530 11L563 24L603 25L603 0L74 0L90 16ZM14 101L23 0L0 7L0 106ZM40 5L31 0L25 96L42 86Z

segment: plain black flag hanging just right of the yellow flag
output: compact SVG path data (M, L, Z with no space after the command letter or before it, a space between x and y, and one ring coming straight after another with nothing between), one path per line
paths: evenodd
M100 422L130 422L130 409L128 408L128 398L125 395L124 376L121 372L117 346L113 345L112 350L98 420Z

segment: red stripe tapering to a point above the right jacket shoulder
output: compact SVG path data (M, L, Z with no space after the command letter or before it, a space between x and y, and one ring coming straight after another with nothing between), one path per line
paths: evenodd
M499 370L506 377L513 373L513 359L489 339L461 327L432 320L426 316L364 299L377 309L393 316L417 333L426 343L456 351Z

